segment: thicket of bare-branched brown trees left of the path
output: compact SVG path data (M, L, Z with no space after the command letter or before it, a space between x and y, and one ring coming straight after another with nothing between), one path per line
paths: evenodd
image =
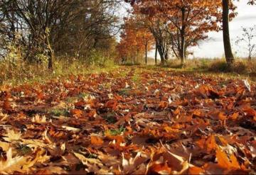
M47 57L48 69L53 69L56 52L61 55L68 50L68 53L81 55L81 51L85 53L97 47L100 40L112 38L114 32L117 32L114 30L117 28L115 11L118 2L119 0L0 0L0 23L3 26L0 35L11 43L18 33L25 52L24 60L38 62L37 56L43 55ZM3 47L0 49L6 50Z

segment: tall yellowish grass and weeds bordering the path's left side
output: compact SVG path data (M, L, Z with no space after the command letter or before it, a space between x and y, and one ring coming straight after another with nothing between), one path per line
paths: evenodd
M114 68L114 61L110 57L104 57L100 52L92 52L85 59L70 57L56 57L53 64L53 72L47 68L47 62L43 55L36 55L41 62L26 62L21 56L21 51L16 47L10 47L4 60L0 60L0 84L19 84L28 81L46 81L55 77L65 77L69 74L87 74L90 72L102 72L104 69Z

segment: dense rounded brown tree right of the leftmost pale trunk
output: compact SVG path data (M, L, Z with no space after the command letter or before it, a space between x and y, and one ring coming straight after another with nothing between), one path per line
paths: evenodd
M68 23L62 21L58 30L51 33L56 54L87 59L90 50L97 50L101 43L108 45L105 40L114 38L119 32L115 16L118 6L114 0L87 0L70 9L70 13L76 15Z

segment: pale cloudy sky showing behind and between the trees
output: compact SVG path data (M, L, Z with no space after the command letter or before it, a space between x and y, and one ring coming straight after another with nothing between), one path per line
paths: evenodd
M242 35L242 26L245 28L252 27L256 25L256 6L248 6L247 0L240 0L235 2L237 4L238 16L236 16L233 21L230 22L230 39L231 45L233 46L234 55L239 57L247 57L247 52L245 50L245 44L235 45L235 40ZM124 9L129 9L125 6ZM121 16L126 16L127 13L120 13ZM255 40L256 44L256 40ZM215 58L223 57L224 46L223 46L223 33L220 32L210 32L208 33L208 40L202 41L199 46L193 47L193 56L191 57L203 57L203 58ZM255 53L256 55L256 53ZM154 57L154 50L149 52L149 57Z

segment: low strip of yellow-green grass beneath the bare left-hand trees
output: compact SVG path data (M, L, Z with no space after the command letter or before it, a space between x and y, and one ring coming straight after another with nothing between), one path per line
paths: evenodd
M21 59L22 60L22 59ZM46 83L51 79L66 79L68 75L100 74L102 72L112 72L118 66L112 61L105 62L104 66L88 64L83 60L72 60L71 58L56 58L53 71L47 67L27 62L13 64L0 60L0 85L9 84L16 86L19 84Z

